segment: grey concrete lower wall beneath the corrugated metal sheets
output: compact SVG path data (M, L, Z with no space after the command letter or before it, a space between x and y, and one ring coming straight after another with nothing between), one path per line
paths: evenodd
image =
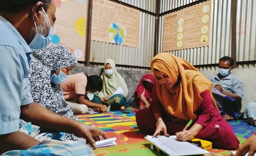
M103 72L103 66L93 66L93 67L85 67L85 66L76 66L70 74L76 74L79 72L87 72L89 75L101 75ZM151 73L148 69L133 69L133 68L122 68L117 67L117 72L122 75L127 84L129 94L128 98L130 99L133 96L133 93L139 84L139 81L142 78L142 75L147 73ZM212 75L217 74L218 71L200 71L207 78L210 78ZM249 102L256 101L256 68L248 68L248 69L234 69L232 71L233 74L238 76L243 84L244 84L244 96L242 97L242 110Z

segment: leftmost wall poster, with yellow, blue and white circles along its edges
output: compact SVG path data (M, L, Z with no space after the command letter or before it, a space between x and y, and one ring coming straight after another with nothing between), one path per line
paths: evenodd
M51 45L67 46L76 60L85 61L88 0L54 0L56 21Z

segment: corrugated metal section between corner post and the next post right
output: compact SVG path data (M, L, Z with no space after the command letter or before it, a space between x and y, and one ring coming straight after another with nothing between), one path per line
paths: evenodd
M194 0L195 1L195 0ZM184 1L183 4L187 1ZM191 1L192 2L192 1ZM189 1L190 3L190 1ZM167 3L168 4L168 3ZM176 8L181 3L172 3L170 8ZM189 61L192 65L207 65L218 63L219 58L224 55L231 55L231 1L230 0L212 0L212 17L211 17L211 40L210 46L203 46L198 48L181 49L169 51L176 56L182 57ZM160 18L160 35L158 52L162 51L162 36L163 36L163 19ZM200 70L215 70L212 68L201 68Z

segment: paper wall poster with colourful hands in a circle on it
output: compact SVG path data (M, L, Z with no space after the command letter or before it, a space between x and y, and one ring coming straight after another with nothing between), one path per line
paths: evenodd
M93 0L91 40L139 48L140 11L109 0Z

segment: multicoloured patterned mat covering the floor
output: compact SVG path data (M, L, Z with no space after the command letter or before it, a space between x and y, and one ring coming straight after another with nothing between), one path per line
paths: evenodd
M109 138L116 137L117 146L97 148L94 150L96 156L163 156L161 152L151 150L150 144L139 131L136 125L134 108L126 108L129 114L121 111L111 111L99 114L76 115L81 123L93 125L107 133ZM249 126L245 121L229 121L236 136L242 143L256 131L256 127ZM212 149L210 152L230 155L227 150Z

